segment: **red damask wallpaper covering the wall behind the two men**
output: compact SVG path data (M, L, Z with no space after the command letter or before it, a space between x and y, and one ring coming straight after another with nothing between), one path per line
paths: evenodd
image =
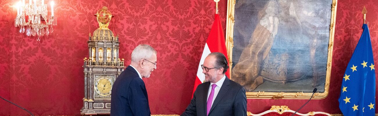
M0 96L35 115L79 115L84 97L83 58L88 57L89 33L98 28L93 16L102 6L115 15L109 28L119 35L120 57L130 63L132 49L150 44L158 65L144 79L152 114L181 114L190 102L203 46L214 21L213 0L55 0L57 26L49 36L20 34L14 27L17 0L0 1ZM47 1L49 2L49 1ZM341 113L338 96L342 75L362 29L366 6L375 63L378 63L378 3L375 0L339 0L330 94L312 100L300 112ZM219 12L226 24L227 1ZM225 30L225 29L224 29ZM225 32L225 31L224 31ZM307 100L248 99L248 111L261 113L271 105L292 110ZM0 100L0 116L28 113Z

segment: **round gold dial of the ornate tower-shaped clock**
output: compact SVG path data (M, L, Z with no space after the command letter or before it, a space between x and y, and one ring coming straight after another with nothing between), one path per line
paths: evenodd
M95 82L95 91L101 96L112 94L113 81L108 76L101 76Z

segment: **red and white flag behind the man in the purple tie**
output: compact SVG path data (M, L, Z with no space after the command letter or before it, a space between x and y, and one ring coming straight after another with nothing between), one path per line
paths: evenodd
M212 52L223 53L226 56L227 61L229 61L228 56L227 56L225 36L223 35L222 23L220 22L220 18L218 14L215 14L215 20L214 20L213 26L211 27L208 40L206 40L206 44L202 52L200 64L198 64L197 78L195 79L195 82L194 82L193 93L195 92L195 89L197 89L197 86L200 85L205 80L205 75L202 73L201 64L203 64L206 56L208 56ZM226 76L229 78L229 69L226 72Z

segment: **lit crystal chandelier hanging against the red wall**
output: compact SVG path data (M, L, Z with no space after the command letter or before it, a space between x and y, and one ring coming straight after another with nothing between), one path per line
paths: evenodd
M32 3L33 1L33 3ZM56 25L56 17L54 17L54 1L51 4L51 15L47 15L47 5L44 0L29 0L25 4L25 0L17 3L17 16L14 19L14 26L20 28L20 33L26 33L28 36L39 37L48 35L54 31L53 26Z

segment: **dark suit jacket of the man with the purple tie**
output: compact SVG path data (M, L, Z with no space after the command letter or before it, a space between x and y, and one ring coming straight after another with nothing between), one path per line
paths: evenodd
M181 116L206 116L210 82L198 85L191 103ZM247 98L242 85L226 77L208 116L247 116Z

